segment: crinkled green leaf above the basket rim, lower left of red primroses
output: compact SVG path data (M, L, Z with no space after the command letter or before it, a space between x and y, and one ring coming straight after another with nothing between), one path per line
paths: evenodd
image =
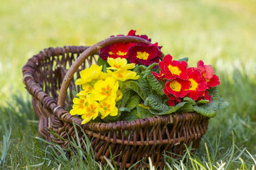
M163 104L163 99L159 95L150 95L144 101L144 105L150 107L156 111L168 111L169 107L166 104Z

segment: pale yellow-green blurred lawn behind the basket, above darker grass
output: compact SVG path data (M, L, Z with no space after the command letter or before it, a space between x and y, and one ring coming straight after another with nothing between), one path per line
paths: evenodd
M19 89L27 59L50 46L93 45L130 29L175 59L202 59L216 70L255 75L254 0L1 1L0 99Z

